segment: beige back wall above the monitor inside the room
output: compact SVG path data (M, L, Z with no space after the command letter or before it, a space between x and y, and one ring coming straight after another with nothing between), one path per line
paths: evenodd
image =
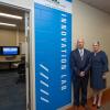
M24 32L18 32L14 29L0 28L0 46L15 46L25 42Z

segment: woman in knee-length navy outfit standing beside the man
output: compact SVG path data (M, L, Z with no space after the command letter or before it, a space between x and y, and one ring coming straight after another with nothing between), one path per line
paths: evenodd
M101 106L102 90L106 88L106 73L108 72L108 57L103 51L100 50L100 43L96 42L92 45L94 52L91 54L91 77L90 85L94 90L94 106L97 108ZM98 98L98 100L97 100Z

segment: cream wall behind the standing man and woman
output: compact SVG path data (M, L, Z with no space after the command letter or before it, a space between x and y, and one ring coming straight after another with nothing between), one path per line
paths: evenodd
M85 38L86 48L92 50L92 42L100 41L102 50L109 56L110 63L110 14L76 0L73 4L73 47L75 48L77 37ZM110 88L110 74L108 74L107 86ZM90 92L90 91L89 91Z

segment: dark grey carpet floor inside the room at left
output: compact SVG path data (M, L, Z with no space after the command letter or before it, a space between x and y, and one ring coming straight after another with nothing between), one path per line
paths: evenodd
M16 72L0 70L0 110L26 110L25 84L16 79Z

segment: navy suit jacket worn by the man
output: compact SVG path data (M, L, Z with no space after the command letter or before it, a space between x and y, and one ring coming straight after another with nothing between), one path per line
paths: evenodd
M88 77L90 69L90 52L84 48L84 59L81 61L78 48L70 53L70 68L74 77L79 77L80 72L85 72L85 77Z

